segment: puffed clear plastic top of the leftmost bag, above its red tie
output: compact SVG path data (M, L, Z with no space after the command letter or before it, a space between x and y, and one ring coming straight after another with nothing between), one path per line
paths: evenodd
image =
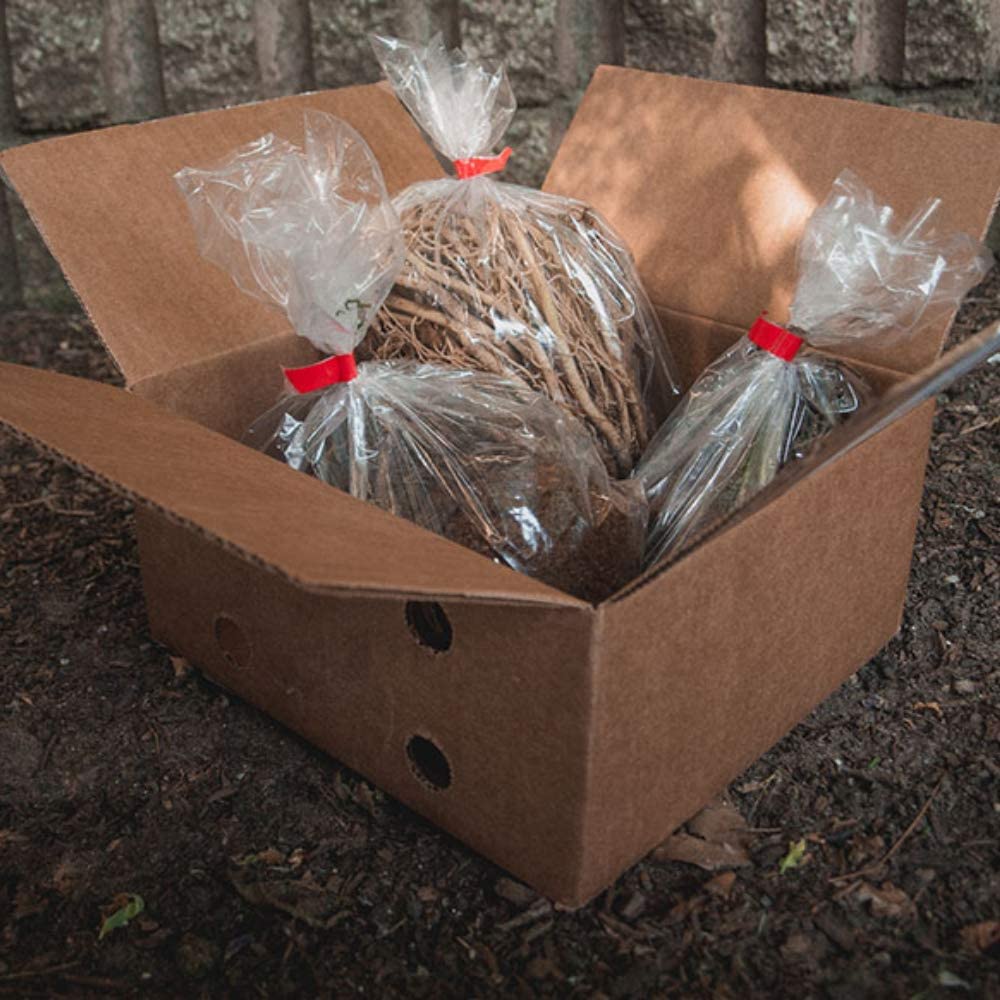
M324 353L361 342L403 239L378 162L354 129L307 111L303 148L265 135L175 180L202 255L243 291L283 308Z

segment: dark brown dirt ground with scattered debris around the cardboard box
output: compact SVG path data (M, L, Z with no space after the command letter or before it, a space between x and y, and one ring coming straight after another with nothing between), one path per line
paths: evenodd
M79 317L0 355L115 378ZM731 786L749 863L650 856L576 912L173 663L129 505L4 436L0 994L1000 996L1000 364L941 404L903 628Z

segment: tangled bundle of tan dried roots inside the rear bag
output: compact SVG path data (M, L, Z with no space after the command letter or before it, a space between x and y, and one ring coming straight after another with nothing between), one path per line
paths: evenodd
M640 378L655 333L603 223L575 202L559 216L532 208L403 207L406 261L367 351L517 375L582 419L626 476L651 430Z

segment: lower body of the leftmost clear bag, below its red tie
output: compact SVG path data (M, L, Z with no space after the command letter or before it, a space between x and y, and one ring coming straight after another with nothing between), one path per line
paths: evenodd
M271 410L247 440L577 597L639 571L639 484L613 482L580 422L514 379L371 361Z

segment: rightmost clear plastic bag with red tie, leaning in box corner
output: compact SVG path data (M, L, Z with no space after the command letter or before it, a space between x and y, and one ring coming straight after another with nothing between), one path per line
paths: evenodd
M989 252L939 235L938 206L898 225L853 173L837 178L799 246L787 329L759 320L709 365L636 468L651 510L647 565L742 506L869 396L858 372L801 341L891 343L953 311L985 276Z

